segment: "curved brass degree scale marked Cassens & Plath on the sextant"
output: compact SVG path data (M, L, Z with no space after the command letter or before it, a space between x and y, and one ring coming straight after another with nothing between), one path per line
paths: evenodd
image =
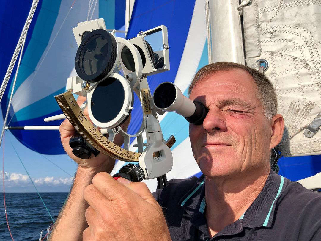
M123 149L113 142L109 141L105 136L103 136L98 129L96 129L92 123L86 118L82 113L78 103L76 102L71 91L67 91L63 94L55 96L56 101L64 112L66 118L78 131L78 133L85 138L93 147L102 153L122 161L138 162L139 156L142 153L132 152ZM172 147L175 143L174 136L171 136L166 145ZM157 155L154 153L153 157Z

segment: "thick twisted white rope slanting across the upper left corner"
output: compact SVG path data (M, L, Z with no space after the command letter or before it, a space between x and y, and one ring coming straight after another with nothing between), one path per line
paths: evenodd
M8 81L10 79L13 67L14 67L14 65L15 65L15 63L17 61L18 54L19 54L19 51L20 51L21 46L22 46L22 42L24 41L24 39L27 36L27 32L28 32L28 29L29 29L29 26L30 26L30 22L32 20L33 14L36 11L38 3L39 3L39 0L33 0L32 1L31 8L30 8L27 20L26 20L26 22L25 22L25 24L23 26L21 35L20 35L18 43L17 43L17 46L16 46L16 48L14 50L13 56L12 56L10 64L9 64L9 67L7 69L7 72L5 73L3 82L2 82L1 87L0 87L0 101L2 100L2 96L4 94L5 88L7 87L7 84L8 84Z

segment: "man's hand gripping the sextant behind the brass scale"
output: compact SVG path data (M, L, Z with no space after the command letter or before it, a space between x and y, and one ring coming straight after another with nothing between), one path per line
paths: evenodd
M77 103L80 106L84 101L86 100L86 97L79 96L77 99ZM87 107L83 111L84 115L88 120L89 115L88 115L88 109ZM126 120L126 122L121 126L123 130L127 130L127 127L129 125L130 118ZM60 138L61 138L61 143L66 151L66 153L75 161L77 162L82 168L86 169L98 169L100 171L111 171L114 167L115 164L115 159L106 156L103 153L100 153L98 156L94 158L89 158L89 159L81 159L77 156L75 156L72 152L72 148L69 146L69 140L70 138L76 134L76 130L70 124L70 122L66 119L64 122L61 123L59 127L60 131ZM120 135L117 135L115 137L114 143L118 146L121 146L124 142L124 138Z

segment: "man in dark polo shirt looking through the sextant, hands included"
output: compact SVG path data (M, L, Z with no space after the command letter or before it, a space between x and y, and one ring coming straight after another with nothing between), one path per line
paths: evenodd
M72 156L74 129L67 121L61 125L65 150L79 167L52 240L321 239L320 193L270 169L284 121L268 79L219 62L201 68L189 91L209 109L202 125L189 128L204 175L171 180L154 193L160 205L145 184L115 181L110 158Z

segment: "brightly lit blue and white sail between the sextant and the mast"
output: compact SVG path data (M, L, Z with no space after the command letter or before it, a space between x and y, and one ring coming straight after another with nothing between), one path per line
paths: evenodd
M139 31L161 24L168 29L170 71L147 77L151 93L160 83L169 81L187 95L187 88L195 73L208 64L204 9L204 1L184 1L184 4L169 1L161 5L149 1L135 1L127 38L135 37ZM136 101L134 110L139 106L140 103ZM168 179L200 175L190 147L189 123L184 117L173 112L159 115L159 120L164 139L170 135L176 138L176 143L171 148L174 165L167 174ZM131 125L129 131L137 130L140 121L136 124L135 128ZM131 150L137 149L132 147ZM114 172L123 165L124 162L118 162ZM156 180L145 182L151 190L157 186Z

